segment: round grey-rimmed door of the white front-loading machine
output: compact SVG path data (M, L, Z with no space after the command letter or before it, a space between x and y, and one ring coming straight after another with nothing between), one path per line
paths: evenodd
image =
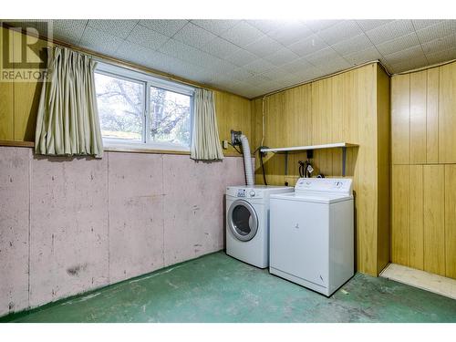
M234 201L228 211L228 226L236 239L252 240L258 231L258 217L252 204L244 200Z

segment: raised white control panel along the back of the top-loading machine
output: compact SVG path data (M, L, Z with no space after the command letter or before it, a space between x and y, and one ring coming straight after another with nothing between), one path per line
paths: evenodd
M295 192L323 192L352 194L352 180L347 178L300 178Z

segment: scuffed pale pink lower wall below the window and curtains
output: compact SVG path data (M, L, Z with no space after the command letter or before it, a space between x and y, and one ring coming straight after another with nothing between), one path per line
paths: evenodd
M223 249L241 157L0 147L0 316Z

